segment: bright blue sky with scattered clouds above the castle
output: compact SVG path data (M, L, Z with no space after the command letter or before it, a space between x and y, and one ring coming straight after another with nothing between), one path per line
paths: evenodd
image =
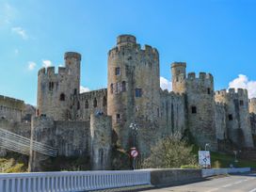
M186 61L188 72L213 73L216 89L256 96L255 9L253 0L0 0L0 94L36 104L38 70L67 51L82 54L83 87L105 88L108 50L132 34L158 49L162 87L170 63Z

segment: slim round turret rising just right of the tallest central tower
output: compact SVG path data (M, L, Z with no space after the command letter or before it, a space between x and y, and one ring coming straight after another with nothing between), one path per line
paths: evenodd
M185 92L185 62L173 62L171 64L172 91L175 93Z

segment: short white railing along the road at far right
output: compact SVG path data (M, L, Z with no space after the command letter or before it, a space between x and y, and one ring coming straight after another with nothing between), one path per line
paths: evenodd
M201 169L202 177L210 177L214 175L223 175L229 173L243 173L249 172L250 168L209 168Z

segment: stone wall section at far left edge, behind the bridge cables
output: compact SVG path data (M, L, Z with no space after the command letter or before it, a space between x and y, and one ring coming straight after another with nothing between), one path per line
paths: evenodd
M0 95L0 119L22 121L24 101Z

